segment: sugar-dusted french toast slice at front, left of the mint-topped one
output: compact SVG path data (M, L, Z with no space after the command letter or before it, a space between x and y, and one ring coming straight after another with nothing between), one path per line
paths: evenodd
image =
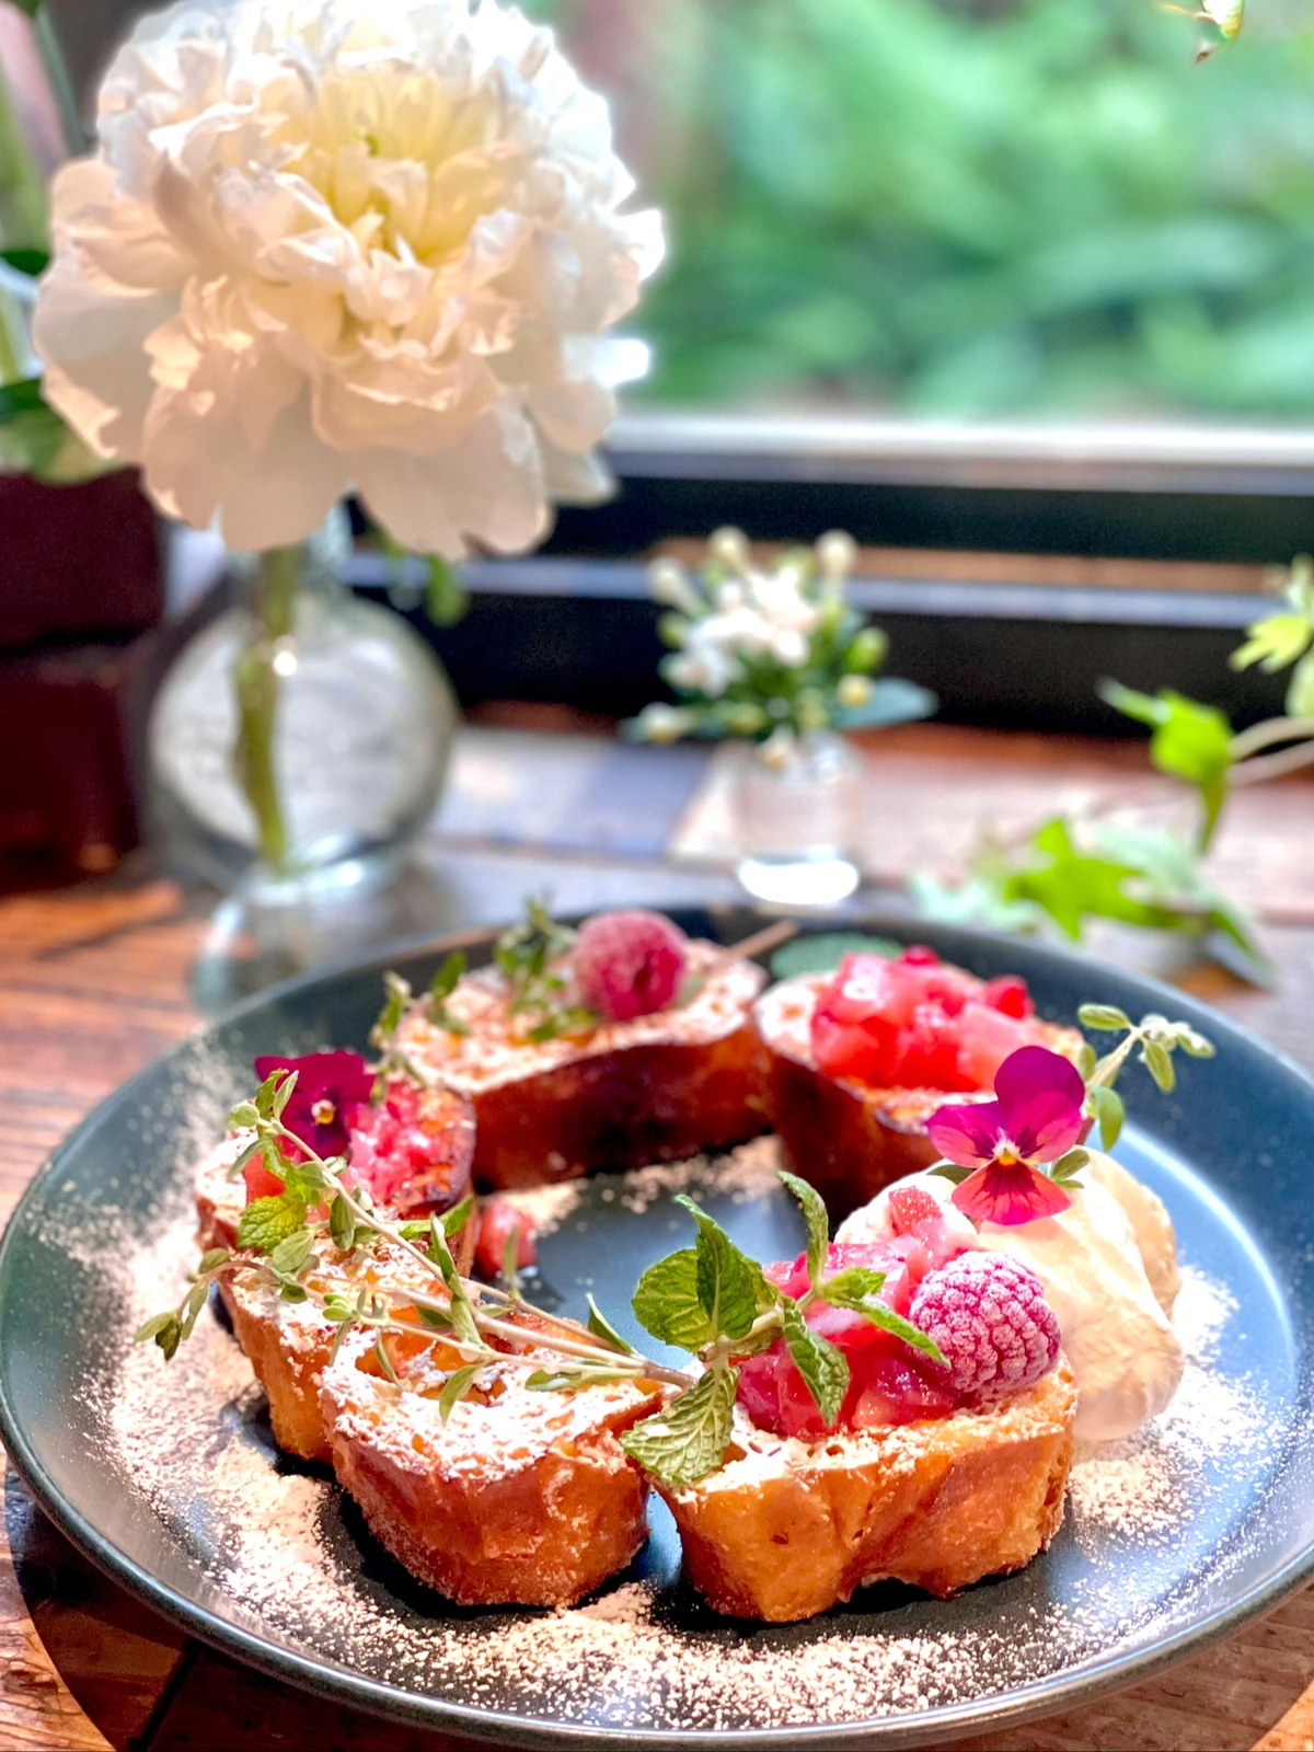
M657 1382L540 1393L522 1365L491 1363L445 1421L443 1382L412 1365L394 1386L368 1333L324 1370L333 1468L380 1544L461 1605L569 1607L624 1570L648 1484L617 1438L657 1410Z

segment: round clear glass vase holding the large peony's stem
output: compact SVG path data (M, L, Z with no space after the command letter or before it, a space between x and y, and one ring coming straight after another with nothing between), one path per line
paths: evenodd
M340 582L345 515L238 562L244 601L177 657L149 725L158 825L265 906L396 880L438 801L456 701L424 641Z

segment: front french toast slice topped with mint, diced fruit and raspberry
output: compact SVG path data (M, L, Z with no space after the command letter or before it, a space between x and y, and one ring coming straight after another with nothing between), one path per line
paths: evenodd
M1060 1358L979 1410L811 1442L769 1435L736 1407L717 1472L678 1491L653 1482L685 1575L717 1612L809 1619L883 1579L948 1598L1020 1570L1058 1531L1076 1402Z

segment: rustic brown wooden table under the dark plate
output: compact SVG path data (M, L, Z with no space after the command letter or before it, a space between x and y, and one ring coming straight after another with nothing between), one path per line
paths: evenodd
M950 860L974 816L1044 811L1060 794L1128 783L1128 767L1139 783L1141 767L1127 748L948 727L892 732L872 750L878 869L888 878ZM732 899L708 759L622 753L590 738L470 734L420 853L426 922L434 932L496 922L545 881L561 911ZM1300 781L1254 794L1219 850L1265 918L1281 990L1254 992L1190 964L1176 974L1314 1065L1314 895L1307 855L1293 862L1310 843L1310 804L1314 790ZM0 1221L89 1107L196 1025L191 979L212 906L214 895L149 860L102 883L0 901ZM1114 950L1144 957L1123 939ZM191 1642L79 1559L12 1477L5 1494L0 1752L459 1745L312 1699ZM960 1745L1310 1748L1312 1680L1309 1593L1149 1684Z

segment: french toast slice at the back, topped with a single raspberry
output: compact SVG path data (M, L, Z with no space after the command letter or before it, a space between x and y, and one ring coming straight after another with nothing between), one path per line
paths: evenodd
M541 1186L729 1149L767 1130L762 1048L750 1021L766 972L689 944L701 985L671 1009L548 1041L520 1037L496 967L466 974L434 1021L424 1002L398 1030L412 1063L475 1106L475 1179Z

